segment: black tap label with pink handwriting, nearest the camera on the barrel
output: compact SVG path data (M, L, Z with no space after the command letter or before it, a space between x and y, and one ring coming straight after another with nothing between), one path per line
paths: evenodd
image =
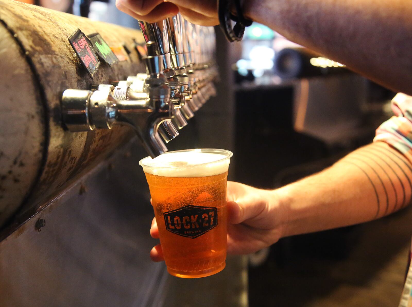
M84 68L86 68L89 75L93 77L100 65L100 61L90 40L80 29L77 29L72 35L70 35L69 42Z

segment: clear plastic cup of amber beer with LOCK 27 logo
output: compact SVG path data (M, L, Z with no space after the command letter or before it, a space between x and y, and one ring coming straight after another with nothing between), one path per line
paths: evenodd
M170 274L206 277L225 268L227 171L232 152L193 149L140 160Z

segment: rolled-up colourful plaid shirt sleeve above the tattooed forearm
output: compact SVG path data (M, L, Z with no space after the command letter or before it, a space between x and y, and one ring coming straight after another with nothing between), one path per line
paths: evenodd
M412 97L397 94L392 110L395 116L379 126L373 141L388 143L412 160Z

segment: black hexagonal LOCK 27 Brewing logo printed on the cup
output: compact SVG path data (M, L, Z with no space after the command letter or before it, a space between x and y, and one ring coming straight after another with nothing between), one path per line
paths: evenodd
M195 239L218 225L215 207L185 206L163 213L166 230Z

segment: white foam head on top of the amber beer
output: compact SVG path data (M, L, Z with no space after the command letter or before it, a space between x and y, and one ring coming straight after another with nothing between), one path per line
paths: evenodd
M145 173L164 177L206 177L225 173L230 159L211 152L166 152L140 161Z

